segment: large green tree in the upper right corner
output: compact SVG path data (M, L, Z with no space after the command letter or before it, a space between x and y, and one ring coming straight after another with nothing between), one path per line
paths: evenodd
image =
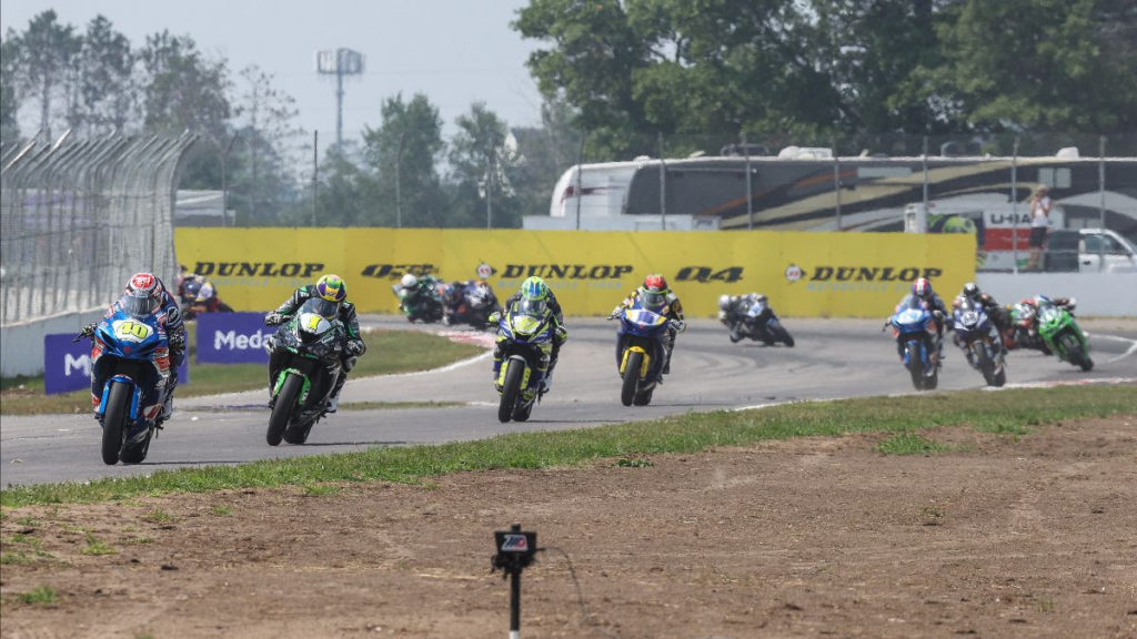
M968 0L939 26L946 64L926 69L979 131L1131 132L1137 7L1121 0Z

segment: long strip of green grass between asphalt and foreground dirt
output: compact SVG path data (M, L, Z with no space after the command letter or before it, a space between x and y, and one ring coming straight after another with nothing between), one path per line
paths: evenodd
M460 471L543 468L598 458L640 460L650 455L748 446L767 439L853 432L919 433L970 425L1014 432L1063 420L1132 415L1137 385L956 391L803 403L744 412L689 413L650 422L556 432L509 433L437 446L372 448L360 453L163 471L150 476L89 483L16 487L0 506L93 503L140 495L309 486L319 482L418 482ZM1010 435L1020 437L1020 435Z

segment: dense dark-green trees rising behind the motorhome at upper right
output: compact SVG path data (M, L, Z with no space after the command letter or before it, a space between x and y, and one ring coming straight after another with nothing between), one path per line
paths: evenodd
M514 28L599 155L1137 131L1132 0L531 0Z

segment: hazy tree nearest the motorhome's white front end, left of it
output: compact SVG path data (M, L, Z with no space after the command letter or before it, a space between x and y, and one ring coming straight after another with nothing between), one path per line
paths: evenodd
M483 102L455 121L450 140L450 180L456 199L448 226L521 226L521 210L511 176L517 172L516 140Z

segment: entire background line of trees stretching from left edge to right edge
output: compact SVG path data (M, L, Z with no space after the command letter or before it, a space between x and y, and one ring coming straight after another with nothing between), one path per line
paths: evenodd
M539 126L475 102L445 139L426 96L397 93L314 171L272 75L234 77L189 35L136 45L103 16L43 11L0 42L0 138L36 133L22 109L45 139L190 130L181 186L224 183L242 225L508 227L576 161L740 141L919 153L924 135L1009 153L1013 136L1137 132L1131 0L530 0L511 26L540 44Z

